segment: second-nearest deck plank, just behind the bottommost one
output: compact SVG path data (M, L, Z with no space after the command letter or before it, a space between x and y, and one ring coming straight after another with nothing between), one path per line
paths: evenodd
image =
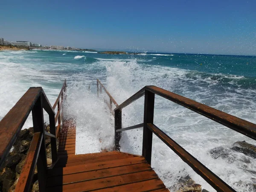
M96 180L82 181L79 183L70 183L63 186L48 187L47 192L56 192L60 190L64 192L91 191L157 178L157 174L153 170L149 170L144 172L131 173L127 175L108 177L107 180L105 178L102 178Z

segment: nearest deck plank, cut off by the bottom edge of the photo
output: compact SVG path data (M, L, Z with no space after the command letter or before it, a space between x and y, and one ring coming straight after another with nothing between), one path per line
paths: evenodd
M146 180L137 183L131 183L127 185L121 185L116 187L111 187L107 189L99 189L95 192L142 192L142 191L151 191L155 192L169 192L168 189L165 188L165 185L160 179ZM159 190L155 190L159 189Z

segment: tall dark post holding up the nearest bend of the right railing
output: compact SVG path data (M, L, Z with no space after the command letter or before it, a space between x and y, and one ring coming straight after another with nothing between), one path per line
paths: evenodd
M154 120L154 93L151 93L150 91L145 90L142 156L145 157L148 164L151 164L152 131L150 131L147 128L147 123L153 123L153 120Z

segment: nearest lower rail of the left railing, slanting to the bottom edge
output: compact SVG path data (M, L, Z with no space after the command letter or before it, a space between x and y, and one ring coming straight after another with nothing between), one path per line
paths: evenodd
M34 134L29 151L26 155L25 163L22 167L15 192L30 192L36 162L38 160L39 149L41 148L43 135L40 132Z

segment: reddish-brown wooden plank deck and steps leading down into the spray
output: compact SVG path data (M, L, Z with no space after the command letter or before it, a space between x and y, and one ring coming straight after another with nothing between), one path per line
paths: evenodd
M119 151L75 154L76 128L62 130L59 160L47 173L47 192L169 192L139 155Z

